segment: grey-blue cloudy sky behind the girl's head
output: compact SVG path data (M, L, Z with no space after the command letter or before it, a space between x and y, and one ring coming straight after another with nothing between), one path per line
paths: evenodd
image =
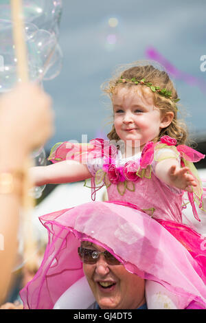
M146 58L155 47L179 70L206 82L205 0L63 0L60 23L62 71L44 82L54 100L55 135L45 148L65 140L91 140L108 133L112 111L100 85L119 64ZM117 19L116 27L108 20ZM110 35L110 36L109 36ZM112 35L112 36L111 36ZM206 91L173 79L186 121L196 137L206 138Z

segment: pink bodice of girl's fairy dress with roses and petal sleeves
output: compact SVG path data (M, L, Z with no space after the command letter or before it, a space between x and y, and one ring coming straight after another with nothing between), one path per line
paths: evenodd
M121 152L109 141L98 138L90 144L57 144L49 160L56 163L70 159L87 164L92 175L89 187L93 201L95 192L106 186L109 201L133 203L154 219L182 223L182 210L187 205L185 192L160 181L155 176L155 166L158 161L175 158L181 166L190 168L198 186L187 194L186 199L192 205L195 219L200 221L194 202L203 210L203 186L193 162L204 157L188 146L176 146L175 139L163 136L157 144L148 142L142 153L128 159L122 158Z

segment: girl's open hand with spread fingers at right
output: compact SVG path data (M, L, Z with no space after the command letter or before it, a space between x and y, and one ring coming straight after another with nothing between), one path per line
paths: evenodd
M189 171L190 168L188 167L178 168L175 165L171 166L168 174L171 185L176 188L181 188L181 190L192 192L191 186L197 186L197 183Z

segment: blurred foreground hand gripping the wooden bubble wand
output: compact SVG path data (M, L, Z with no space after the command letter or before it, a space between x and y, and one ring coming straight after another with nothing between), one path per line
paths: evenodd
M30 153L53 133L51 98L34 83L16 85L0 98L0 148Z

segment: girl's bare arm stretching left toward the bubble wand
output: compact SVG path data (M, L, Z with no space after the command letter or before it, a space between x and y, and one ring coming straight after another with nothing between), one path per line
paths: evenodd
M78 161L65 160L49 166L38 166L30 168L30 176L35 186L45 184L71 183L90 178L87 165Z

